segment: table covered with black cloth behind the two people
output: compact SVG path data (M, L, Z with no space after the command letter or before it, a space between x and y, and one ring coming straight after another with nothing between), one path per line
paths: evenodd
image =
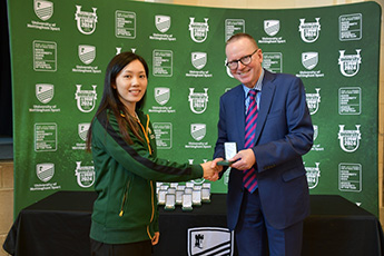
M226 227L224 194L193 211L160 207L160 243L155 256L188 255L188 228ZM58 191L20 211L3 248L16 256L88 256L93 191ZM303 256L383 255L377 218L341 196L311 195L304 221ZM234 255L237 255L234 249Z

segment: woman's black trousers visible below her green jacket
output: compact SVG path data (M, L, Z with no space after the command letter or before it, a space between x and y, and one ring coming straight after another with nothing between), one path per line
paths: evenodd
M152 245L150 240L129 244L104 244L90 239L91 256L151 256Z

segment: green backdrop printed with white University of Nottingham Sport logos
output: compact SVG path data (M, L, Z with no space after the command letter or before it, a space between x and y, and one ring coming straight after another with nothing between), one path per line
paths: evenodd
M159 156L211 159L225 41L255 37L264 67L301 77L315 127L304 157L311 194L341 195L377 215L381 9L220 9L124 0L8 1L14 121L14 214L58 190L91 190L85 136L108 61L136 51L150 67L146 111ZM211 184L226 193L227 178ZM197 180L204 181L204 180Z

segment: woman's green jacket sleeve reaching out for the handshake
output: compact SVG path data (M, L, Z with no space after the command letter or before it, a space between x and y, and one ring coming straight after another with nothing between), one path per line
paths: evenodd
M104 111L93 121L92 147L102 148L128 171L154 181L187 181L203 177L200 165L178 164L154 157L146 141L135 136L131 138L134 144L128 145L112 114Z

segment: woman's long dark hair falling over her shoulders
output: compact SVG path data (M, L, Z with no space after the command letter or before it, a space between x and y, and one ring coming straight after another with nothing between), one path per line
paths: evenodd
M132 140L128 135L127 125L128 125L128 128L132 130L136 137L138 137L139 139L142 139L138 132L137 122L135 121L134 117L131 117L128 114L125 105L119 99L117 90L114 89L114 87L116 88L116 77L118 76L118 73L134 60L139 60L142 63L144 69L146 71L146 77L148 79L148 76L149 76L148 65L141 56L138 56L130 51L125 51L115 56L110 60L106 70L102 98L101 98L99 108L97 109L95 117L92 118L91 125L89 126L89 130L87 134L87 147L86 147L87 151L91 150L93 119L106 109L109 109L115 115L117 122L119 125L120 134L129 144L132 144ZM146 96L147 96L147 91L144 93L142 98L136 104L137 109L141 109L144 107Z

